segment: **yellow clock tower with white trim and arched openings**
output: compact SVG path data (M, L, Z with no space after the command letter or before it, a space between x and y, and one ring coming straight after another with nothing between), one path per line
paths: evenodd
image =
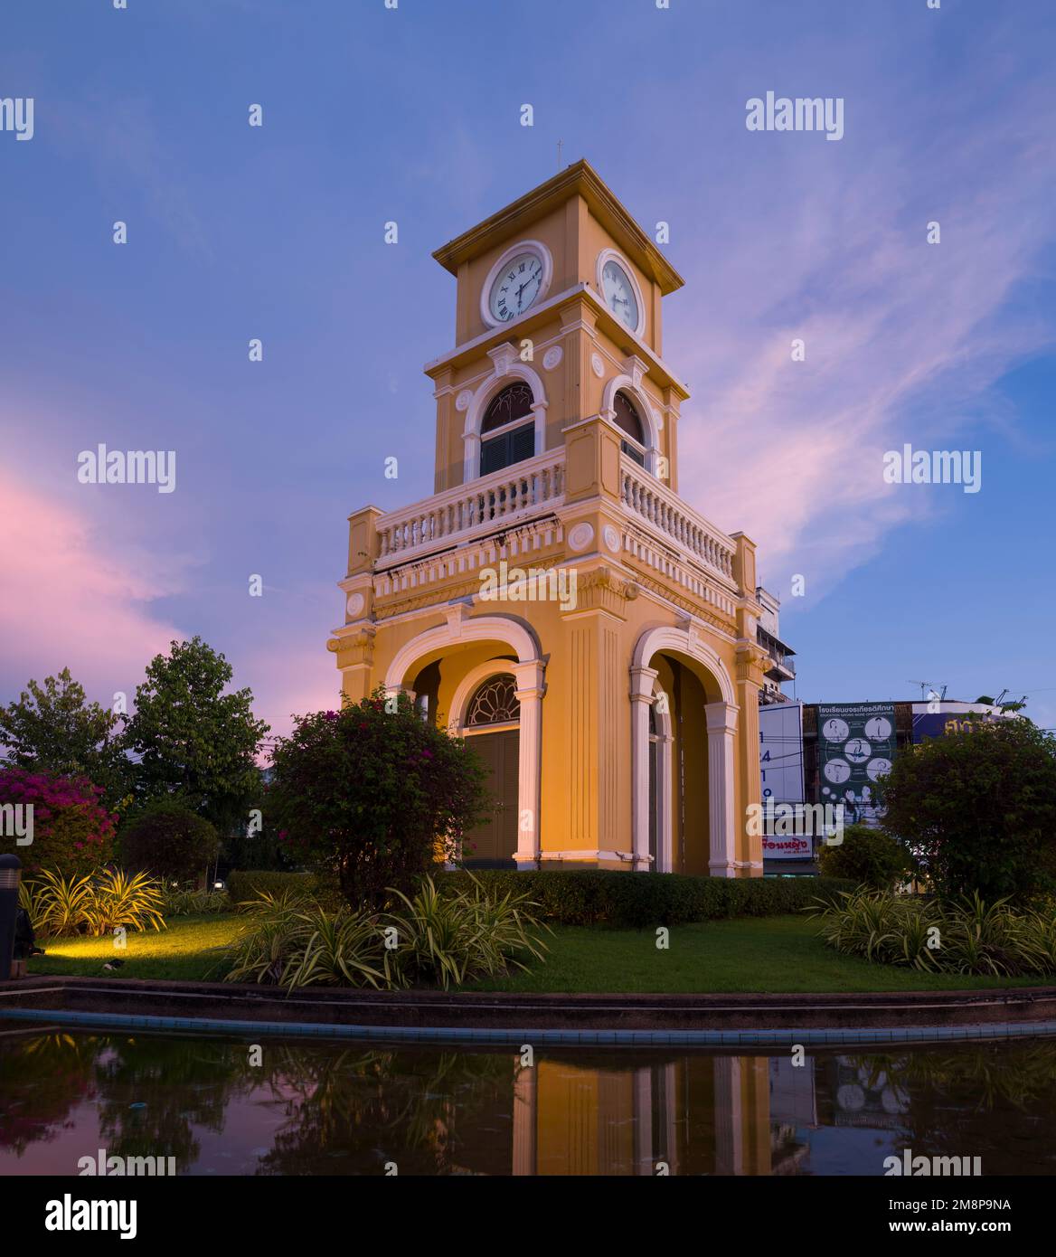
M349 517L346 695L471 739L468 861L759 875L756 553L678 495L680 277L586 162L434 256L435 491Z

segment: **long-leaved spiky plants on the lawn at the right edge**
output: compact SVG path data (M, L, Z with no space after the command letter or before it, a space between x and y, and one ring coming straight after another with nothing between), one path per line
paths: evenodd
M1023 977L1056 973L1056 916L1017 911L1006 899L986 904L896 895L860 887L837 903L806 909L826 944L876 964L939 973Z

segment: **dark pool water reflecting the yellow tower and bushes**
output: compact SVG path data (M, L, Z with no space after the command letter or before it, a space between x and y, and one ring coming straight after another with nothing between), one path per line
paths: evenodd
M1056 1043L891 1055L367 1050L0 1037L0 1173L172 1156L181 1174L1056 1173Z

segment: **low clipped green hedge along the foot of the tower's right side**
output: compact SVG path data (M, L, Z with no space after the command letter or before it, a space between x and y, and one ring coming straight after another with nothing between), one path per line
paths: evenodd
M832 901L855 882L837 877L690 877L676 872L595 869L524 871L456 870L440 876L441 890L475 877L489 894L527 894L543 920L561 925L656 926L732 916L781 916L816 899Z

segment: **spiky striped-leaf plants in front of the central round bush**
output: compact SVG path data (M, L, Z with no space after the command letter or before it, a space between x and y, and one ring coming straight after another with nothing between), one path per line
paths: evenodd
M537 931L544 926L522 895L493 899L480 886L440 895L431 879L412 897L395 894L404 911L371 914L328 911L292 886L263 892L244 905L250 924L235 943L228 980L287 991L312 984L446 991L524 969L522 957L543 959Z

